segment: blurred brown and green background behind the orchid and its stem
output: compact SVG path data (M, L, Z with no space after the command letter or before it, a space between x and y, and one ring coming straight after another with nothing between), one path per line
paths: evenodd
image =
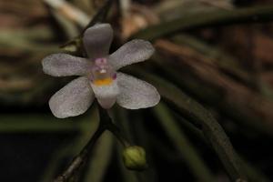
M0 181L53 181L94 134L95 106L51 114L50 96L73 77L46 76L41 60L79 56L76 37L106 11L111 52L133 38L157 49L124 71L156 86L160 104L111 109L149 167L127 170L106 132L71 181L273 181L271 0L0 0Z

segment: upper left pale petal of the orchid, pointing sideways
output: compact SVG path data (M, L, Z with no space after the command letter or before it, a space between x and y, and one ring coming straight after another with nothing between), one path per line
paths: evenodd
M42 61L43 71L50 76L83 76L91 63L85 58L67 54L53 54Z

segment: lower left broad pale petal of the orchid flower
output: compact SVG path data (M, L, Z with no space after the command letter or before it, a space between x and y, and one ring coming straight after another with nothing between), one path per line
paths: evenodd
M86 112L94 100L94 93L89 80L78 77L60 89L49 100L49 107L54 116L65 118L78 116Z

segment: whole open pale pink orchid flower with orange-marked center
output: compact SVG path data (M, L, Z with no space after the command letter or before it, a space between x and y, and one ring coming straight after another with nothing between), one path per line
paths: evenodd
M43 70L50 76L79 76L61 88L49 100L54 116L65 118L86 112L95 97L103 108L115 103L128 109L156 106L157 89L136 77L116 72L119 68L147 60L153 46L144 40L132 40L109 55L113 29L97 24L86 29L83 43L88 58L59 53L46 56Z

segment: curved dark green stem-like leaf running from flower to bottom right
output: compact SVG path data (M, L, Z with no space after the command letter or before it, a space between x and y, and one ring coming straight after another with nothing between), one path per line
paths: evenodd
M167 103L173 106L179 114L201 126L204 135L226 168L229 177L231 177L233 181L244 181L246 176L241 170L238 155L215 117L212 116L206 108L183 93L177 86L174 86L163 78L147 74L140 70L137 70L137 73L139 76L145 77L149 83L156 86L160 95L163 96Z

